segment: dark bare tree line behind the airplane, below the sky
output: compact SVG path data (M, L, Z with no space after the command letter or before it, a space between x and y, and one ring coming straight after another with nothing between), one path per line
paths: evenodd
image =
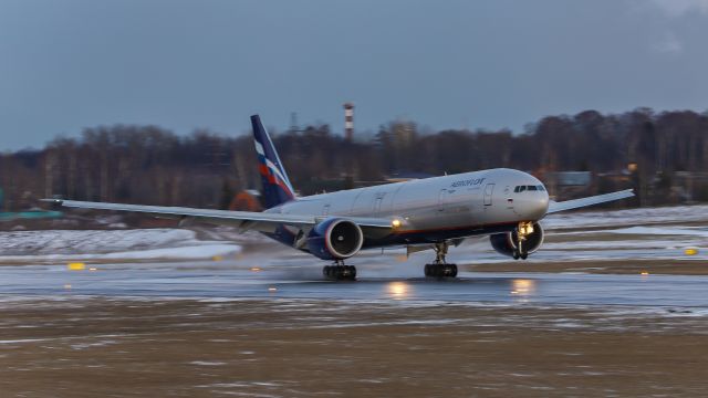
M353 142L327 125L273 137L302 195L381 184L400 171L442 175L509 167L542 180L556 171L590 171L590 193L633 187L638 205L688 200L676 193L677 186L687 184L690 200L708 201L708 113L585 111L544 117L521 134L423 132L398 121ZM179 136L158 126L100 126L76 138L55 138L43 149L0 156L6 211L51 196L226 208L235 192L259 186L251 136L204 129Z

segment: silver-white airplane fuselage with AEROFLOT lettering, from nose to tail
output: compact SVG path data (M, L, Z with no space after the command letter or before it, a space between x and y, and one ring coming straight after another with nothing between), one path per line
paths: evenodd
M398 220L397 232L409 238L402 242L415 243L538 221L548 206L548 192L535 177L513 169L490 169L315 195L268 211L388 218Z

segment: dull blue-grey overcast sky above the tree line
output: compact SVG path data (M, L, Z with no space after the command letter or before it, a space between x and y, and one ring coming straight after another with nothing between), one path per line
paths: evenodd
M708 0L0 0L0 150L82 128L708 109Z

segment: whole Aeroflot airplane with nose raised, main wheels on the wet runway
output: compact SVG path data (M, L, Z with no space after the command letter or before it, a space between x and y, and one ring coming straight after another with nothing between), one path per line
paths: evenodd
M344 260L361 250L403 247L408 254L433 249L428 277L456 277L446 256L451 245L489 235L502 255L525 260L543 244L539 223L548 214L633 197L632 189L556 202L543 184L514 169L497 168L431 177L331 193L296 197L259 115L251 116L263 212L195 209L44 199L67 208L149 213L184 222L207 222L254 230L281 243L332 261L330 280L355 280Z

